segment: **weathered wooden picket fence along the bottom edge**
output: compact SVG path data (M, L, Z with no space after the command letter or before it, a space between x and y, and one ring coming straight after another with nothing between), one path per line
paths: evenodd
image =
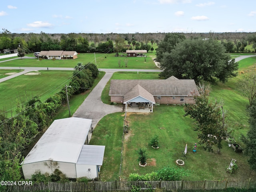
M211 190L226 188L256 188L256 181L114 181L114 182L48 182L33 183L32 185L10 186L10 192L109 192L109 191L130 191L132 187L139 187L141 190L164 189L164 190Z

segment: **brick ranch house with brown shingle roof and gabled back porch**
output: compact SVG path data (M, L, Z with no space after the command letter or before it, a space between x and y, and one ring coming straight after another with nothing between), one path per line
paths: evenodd
M156 103L194 104L192 92L197 92L194 80L171 76L164 80L111 80L108 95L111 102L124 103L127 112L153 112Z

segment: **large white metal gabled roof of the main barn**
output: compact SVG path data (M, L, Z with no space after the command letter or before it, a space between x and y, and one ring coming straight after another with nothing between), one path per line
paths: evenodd
M64 118L54 120L38 140L23 164L46 161L76 163L92 124L91 119Z

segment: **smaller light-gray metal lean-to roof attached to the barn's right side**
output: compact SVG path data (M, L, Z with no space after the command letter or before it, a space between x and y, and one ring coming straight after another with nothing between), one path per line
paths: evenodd
M84 145L76 164L102 165L105 146Z

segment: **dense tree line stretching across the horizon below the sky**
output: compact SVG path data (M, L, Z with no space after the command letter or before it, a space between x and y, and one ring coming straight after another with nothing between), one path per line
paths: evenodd
M127 49L150 50L153 44L164 40L168 33L134 33L134 34L46 34L11 33L2 29L0 32L0 50L22 48L24 52L41 50L66 50L76 52L125 52ZM256 52L256 32L228 33L177 33L185 38L214 39L220 41L227 52L249 52L245 47L253 44ZM124 43L127 41L127 43Z

